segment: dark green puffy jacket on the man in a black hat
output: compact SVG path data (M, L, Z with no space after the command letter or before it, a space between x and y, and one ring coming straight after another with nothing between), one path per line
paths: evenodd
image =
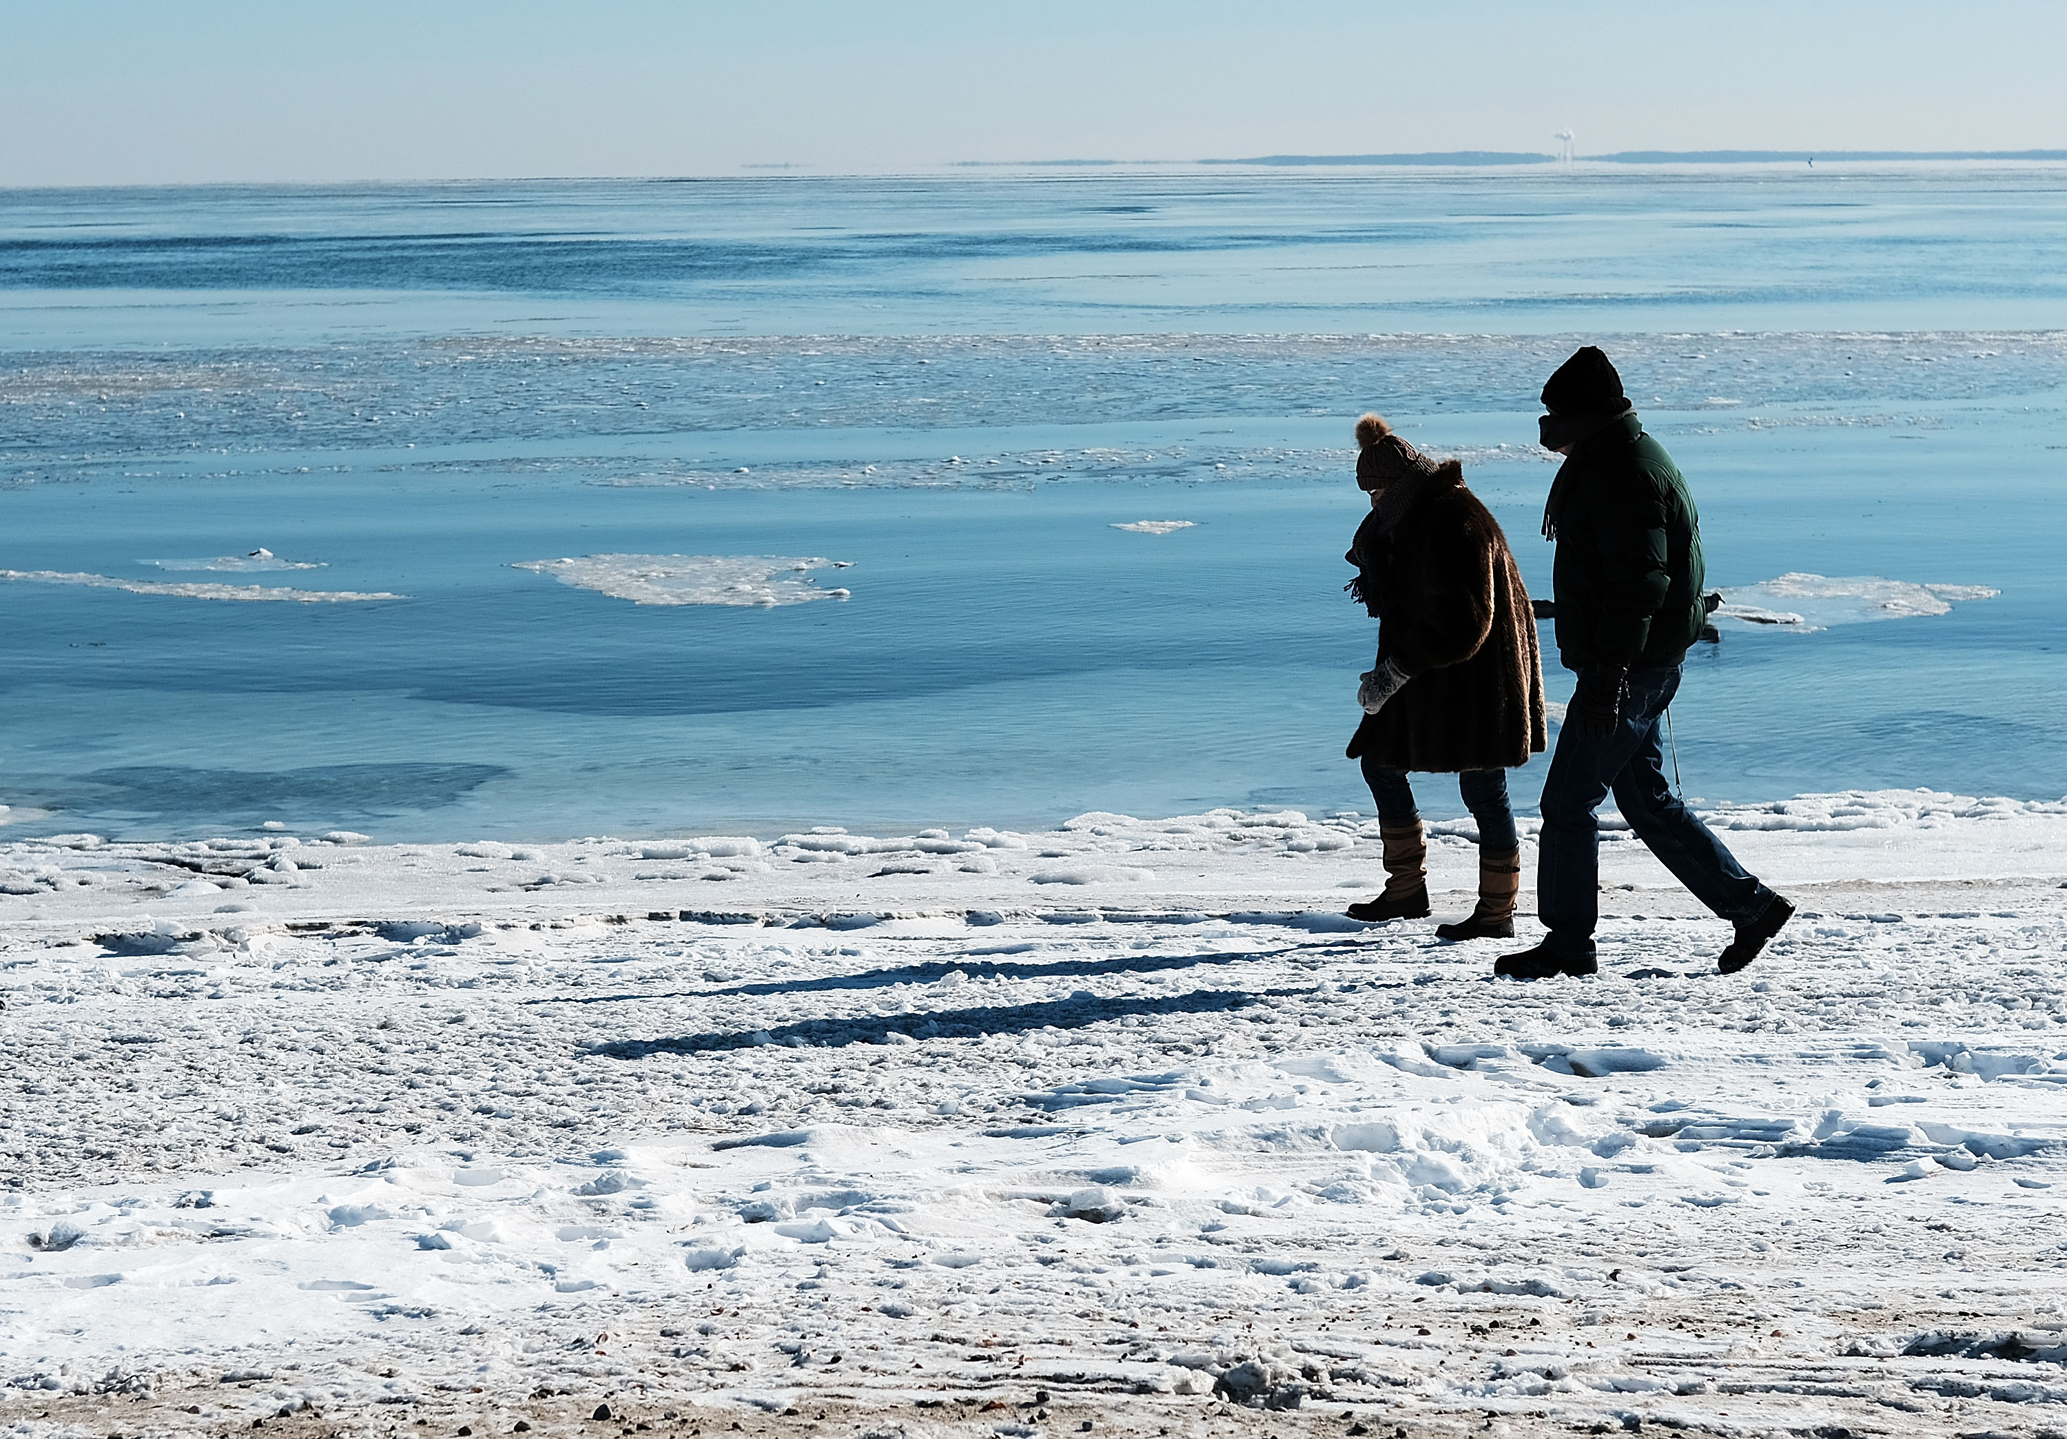
M1666 447L1627 414L1573 449L1550 496L1559 662L1683 662L1707 620L1707 575L1701 515Z

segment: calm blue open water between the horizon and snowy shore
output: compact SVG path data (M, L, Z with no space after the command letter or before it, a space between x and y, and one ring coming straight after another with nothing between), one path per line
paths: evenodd
M4 833L1368 810L1350 420L1461 455L1548 591L1534 395L1583 341L1689 471L1714 583L2001 591L1701 647L1691 794L2059 798L2063 180L0 192L0 569L74 577L0 583ZM1193 525L1112 527L1143 519ZM260 546L320 569L151 564ZM593 554L823 556L852 598L513 569Z

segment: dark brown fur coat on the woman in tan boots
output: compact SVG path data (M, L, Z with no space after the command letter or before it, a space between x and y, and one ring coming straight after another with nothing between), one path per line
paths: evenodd
M1457 461L1428 478L1391 531L1379 657L1412 678L1364 715L1350 759L1455 773L1525 765L1548 744L1530 595Z

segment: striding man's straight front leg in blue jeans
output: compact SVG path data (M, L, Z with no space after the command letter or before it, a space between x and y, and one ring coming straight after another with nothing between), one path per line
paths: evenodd
M1561 724L1550 773L1538 808L1544 817L1536 850L1536 918L1550 935L1544 949L1563 959L1594 957L1594 926L1600 922L1600 829L1594 810L1608 798L1614 777L1645 738L1656 742L1658 686L1631 676L1629 703L1606 736L1581 734Z

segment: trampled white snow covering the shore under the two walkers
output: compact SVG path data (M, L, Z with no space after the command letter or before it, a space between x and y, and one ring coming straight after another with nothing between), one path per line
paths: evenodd
M0 1429L2030 1433L2067 802L1711 819L1767 955L1610 829L1556 984L1354 815L4 844Z

